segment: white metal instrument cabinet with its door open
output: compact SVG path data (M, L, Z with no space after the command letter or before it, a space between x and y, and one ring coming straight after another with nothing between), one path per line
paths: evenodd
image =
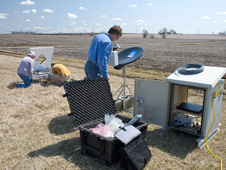
M174 72L164 82L136 79L134 116L142 114L142 120L147 123L193 134L197 136L200 148L205 145L208 130L214 121L212 100L215 122L208 140L220 130L224 89L221 78L225 73L226 68L204 66L204 71L198 74ZM217 90L221 93L213 98Z

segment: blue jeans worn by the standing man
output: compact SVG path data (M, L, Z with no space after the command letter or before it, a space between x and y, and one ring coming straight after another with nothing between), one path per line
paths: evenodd
M100 75L100 69L91 61L87 61L85 65L85 73L87 79L95 79Z

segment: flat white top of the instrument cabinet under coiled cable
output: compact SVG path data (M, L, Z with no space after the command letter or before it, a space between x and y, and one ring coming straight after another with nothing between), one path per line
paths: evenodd
M172 73L165 81L180 85L213 88L226 73L226 68L204 66L204 71L199 74L182 75Z

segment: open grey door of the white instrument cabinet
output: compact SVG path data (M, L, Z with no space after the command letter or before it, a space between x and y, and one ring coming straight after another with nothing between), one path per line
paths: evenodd
M169 83L152 80L135 80L134 116L141 114L142 121L167 126Z

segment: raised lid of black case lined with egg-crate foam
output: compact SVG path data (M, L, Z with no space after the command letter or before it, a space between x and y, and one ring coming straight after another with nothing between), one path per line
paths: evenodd
M77 126L116 113L107 78L73 80L64 89Z

